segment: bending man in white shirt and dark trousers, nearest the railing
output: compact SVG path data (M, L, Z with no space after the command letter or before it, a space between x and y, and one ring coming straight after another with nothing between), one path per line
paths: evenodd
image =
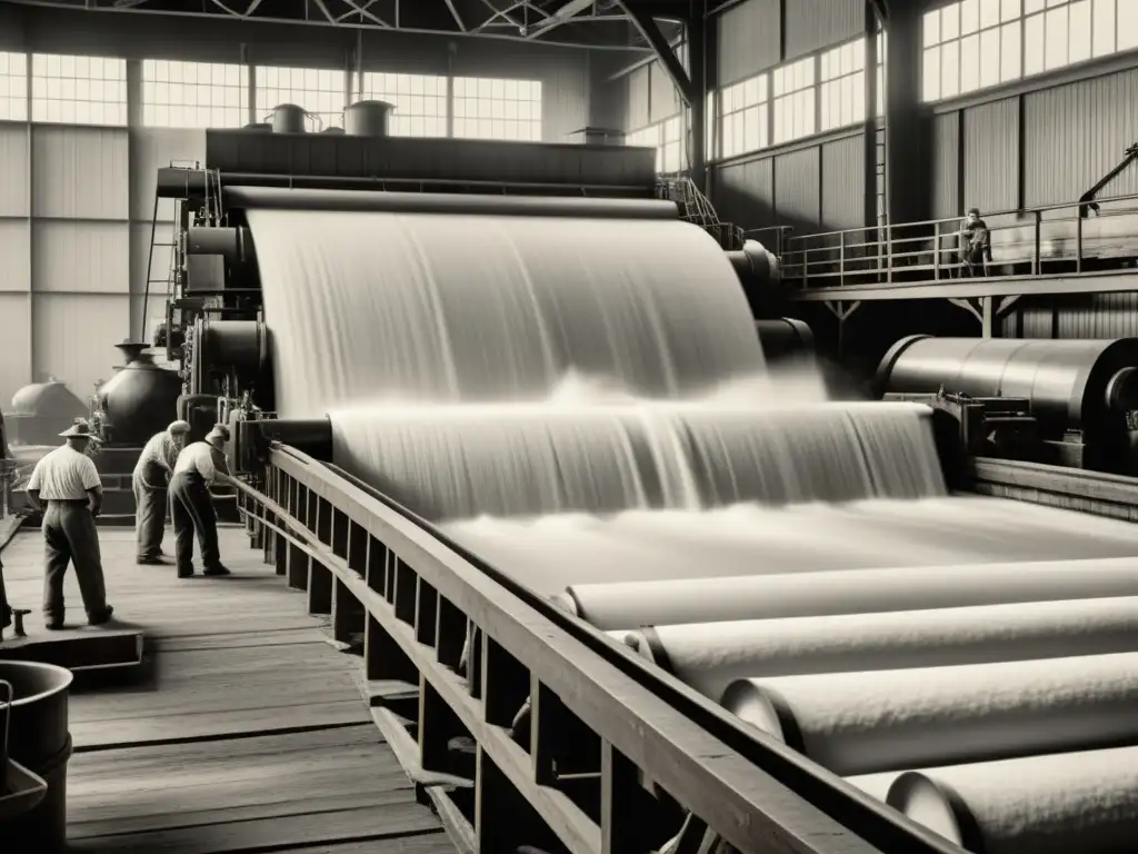
M209 486L229 481L225 443L229 428L215 425L204 442L182 449L170 479L171 511L174 517L174 560L178 577L193 575L193 536L201 550L203 575L229 575L221 563L217 543L217 515L214 512Z

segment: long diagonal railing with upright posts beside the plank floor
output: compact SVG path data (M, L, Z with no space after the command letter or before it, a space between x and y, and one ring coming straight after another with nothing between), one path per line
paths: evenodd
M468 823L470 849L546 838L551 851L646 854L662 840L645 832L678 831L686 814L691 851L704 837L740 852L957 851L336 467L274 446L265 479L264 492L239 487L254 545L337 640L362 634L371 684L415 689L421 769L454 774L453 740L477 745L473 799L445 811ZM645 786L681 819L653 815Z

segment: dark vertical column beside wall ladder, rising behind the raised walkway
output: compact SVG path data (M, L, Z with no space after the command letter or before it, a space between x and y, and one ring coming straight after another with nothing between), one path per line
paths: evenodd
M921 100L920 3L890 3L885 27L885 198L892 224L932 219L932 110Z

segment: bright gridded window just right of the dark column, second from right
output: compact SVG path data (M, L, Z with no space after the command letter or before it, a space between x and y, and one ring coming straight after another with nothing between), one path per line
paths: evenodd
M1021 10L1021 0L960 0L927 13L924 100L954 98L1020 77Z

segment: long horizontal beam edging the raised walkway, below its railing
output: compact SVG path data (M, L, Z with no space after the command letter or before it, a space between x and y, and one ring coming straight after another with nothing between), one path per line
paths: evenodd
M1138 291L1138 273L1100 272L1063 276L1004 276L954 281L842 285L791 291L799 303L859 302L880 299L967 299L978 296L1039 296L1045 294L1120 294Z

